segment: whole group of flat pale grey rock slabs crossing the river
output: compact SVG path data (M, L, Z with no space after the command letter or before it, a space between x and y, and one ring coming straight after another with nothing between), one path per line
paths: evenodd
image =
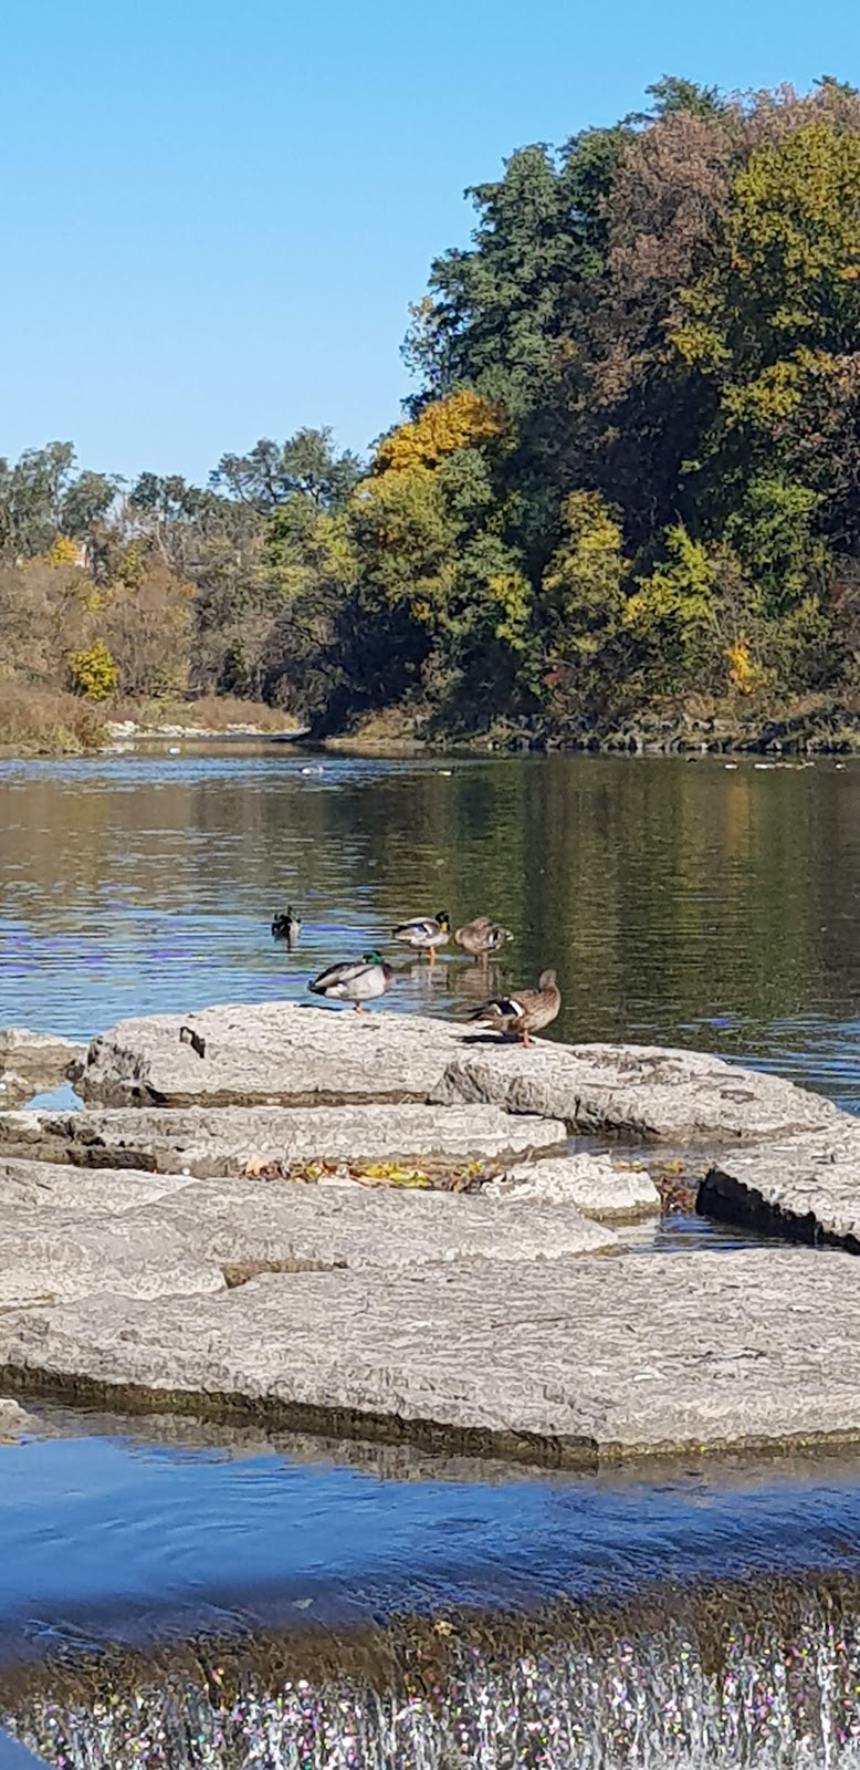
M570 1467L860 1441L860 1126L787 1081L297 1004L9 1032L0 1081L5 1393ZM773 1244L648 1248L680 1149Z

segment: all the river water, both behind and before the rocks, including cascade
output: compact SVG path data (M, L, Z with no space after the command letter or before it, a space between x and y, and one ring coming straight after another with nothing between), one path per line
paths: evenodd
M557 968L552 1035L860 1112L860 763L182 743L0 763L0 1025L304 998L407 915L487 912L492 988ZM382 1011L487 988L396 965ZM855 1455L529 1478L50 1409L0 1448L0 1712L57 1766L819 1770L858 1690Z

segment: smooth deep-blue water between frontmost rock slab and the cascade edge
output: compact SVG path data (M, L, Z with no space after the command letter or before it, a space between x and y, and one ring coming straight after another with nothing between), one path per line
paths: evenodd
M173 1443L142 1427L0 1450L0 1658L18 1657L19 1630L133 1644L157 1639L166 1618L188 1630L313 1609L354 1625L655 1579L860 1577L853 1458L791 1476L687 1458L648 1480L524 1480L501 1464L481 1480L465 1460L439 1480L428 1458L423 1480L403 1480L384 1458L375 1473L366 1446L352 1450L357 1466L297 1462L253 1434L246 1446L223 1430L219 1443L212 1427L205 1448L180 1421L170 1430Z

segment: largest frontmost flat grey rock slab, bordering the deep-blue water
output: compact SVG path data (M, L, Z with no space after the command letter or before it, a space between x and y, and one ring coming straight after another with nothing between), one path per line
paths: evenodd
M265 1276L0 1313L7 1386L595 1466L860 1435L860 1262L805 1248ZM203 1398L203 1400L202 1400Z

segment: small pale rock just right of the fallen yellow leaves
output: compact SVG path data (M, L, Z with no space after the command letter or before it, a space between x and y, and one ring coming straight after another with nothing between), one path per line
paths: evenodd
M573 1205L598 1223L630 1223L660 1214L660 1193L649 1174L619 1166L609 1156L561 1156L508 1168L483 1188L483 1198L506 1205Z

